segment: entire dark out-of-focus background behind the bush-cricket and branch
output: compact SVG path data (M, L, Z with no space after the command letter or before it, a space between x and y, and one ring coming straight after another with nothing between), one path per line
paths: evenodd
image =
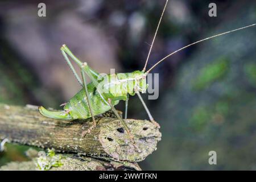
M98 72L141 70L164 0L0 2L0 102L60 109L80 85L60 52L67 44ZM170 1L148 68L171 51L256 23L255 1ZM185 49L156 67L159 98L146 103L163 134L142 169L256 169L256 27ZM124 103L117 107L124 110ZM137 96L129 118L148 119ZM28 160L27 147L7 147L0 166ZM209 165L208 152L217 152Z

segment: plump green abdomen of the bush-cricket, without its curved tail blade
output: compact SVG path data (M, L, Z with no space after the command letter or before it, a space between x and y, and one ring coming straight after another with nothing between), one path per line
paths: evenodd
M111 109L111 107L106 102L104 102L104 100L102 100L95 86L88 84L87 87L93 115L102 114ZM71 100L69 100L67 105L64 106L64 109L69 111L69 115L72 117L72 119L86 119L92 117L90 115L84 88L82 88L80 92L78 92L73 98L71 98Z

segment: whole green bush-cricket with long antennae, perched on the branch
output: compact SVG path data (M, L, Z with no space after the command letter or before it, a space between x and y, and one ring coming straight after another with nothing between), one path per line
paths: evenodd
M61 111L51 111L45 109L43 106L39 107L39 111L42 115L54 118L54 119L86 119L92 117L93 119L93 126L90 127L86 133L89 133L95 126L96 121L94 119L95 115L105 113L105 111L113 110L115 115L117 115L118 119L121 121L124 129L126 132L130 135L129 128L127 127L126 123L123 121L123 119L119 116L117 113L117 110L115 110L115 105L118 104L120 100L125 101L125 118L127 118L127 107L128 107L128 101L129 101L129 95L134 96L135 94L138 95L139 100L141 100L142 105L144 106L144 109L146 110L148 117L150 118L150 121L155 124L156 127L160 127L157 122L155 122L154 118L150 114L150 111L148 110L148 107L146 106L145 102L143 101L140 92L146 92L147 89L147 82L146 77L147 74L152 71L156 67L156 65L162 63L162 61L166 60L171 55L174 55L175 53L190 47L194 44L203 42L208 39L216 38L217 36L221 36L224 34L229 34L230 32L242 30L244 28L248 28L251 26L255 26L255 24L250 24L249 26L237 28L235 30L227 31L221 34L217 34L214 36L210 36L205 39L201 39L197 42L188 44L185 47L182 47L180 49L177 49L176 51L170 53L166 57L163 57L163 59L159 60L156 64L154 64L150 69L146 71L148 58L150 57L151 49L154 44L160 22L162 20L164 11L166 10L168 0L166 1L164 5L164 9L162 11L162 15L160 16L158 26L156 27L156 31L154 34L154 38L152 39L151 47L147 55L146 63L144 65L144 68L142 71L134 71L131 73L115 73L115 74L109 74L105 76L101 76L100 73L97 73L92 68L89 67L87 63L82 63L73 53L69 50L65 44L60 48L61 52L63 53L63 56L65 60L67 61L69 67L72 69L75 77L82 85L82 89L71 98L67 102L67 104L64 105L64 110ZM77 65L79 65L81 69L81 76L82 79L79 77L79 75L76 73L75 69L73 68L73 65L71 61L69 60L69 57L72 58L73 61ZM89 84L86 84L85 80L85 74L89 76L89 78L92 80ZM105 92L106 90L110 92ZM131 140L133 140L133 137L131 137Z

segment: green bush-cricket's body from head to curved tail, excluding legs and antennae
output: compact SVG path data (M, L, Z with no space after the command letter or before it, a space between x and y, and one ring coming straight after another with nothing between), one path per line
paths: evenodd
M99 78L97 88L93 82L86 85L93 115L102 114L111 109L108 104L109 98L113 105L117 105L119 100L127 99L127 94L134 96L136 85L140 92L145 92L147 84L146 76L143 76L144 73L141 71L116 73ZM39 111L42 115L55 119L73 120L92 117L84 88L68 101L63 111L49 111L42 106L39 107Z

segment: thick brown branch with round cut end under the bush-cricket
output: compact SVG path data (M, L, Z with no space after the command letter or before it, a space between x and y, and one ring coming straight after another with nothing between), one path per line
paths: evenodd
M144 160L156 150L161 134L150 121L124 119L134 137L132 143L118 119L111 113L109 116L96 117L97 127L84 136L84 131L92 126L91 119L60 121L43 117L35 106L0 105L0 139L127 162Z

